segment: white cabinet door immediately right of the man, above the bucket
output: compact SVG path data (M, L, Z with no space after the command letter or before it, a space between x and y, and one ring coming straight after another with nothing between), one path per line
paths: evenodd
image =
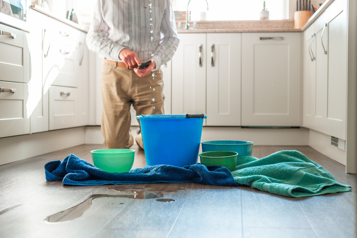
M206 34L179 34L172 59L172 114L206 113Z

